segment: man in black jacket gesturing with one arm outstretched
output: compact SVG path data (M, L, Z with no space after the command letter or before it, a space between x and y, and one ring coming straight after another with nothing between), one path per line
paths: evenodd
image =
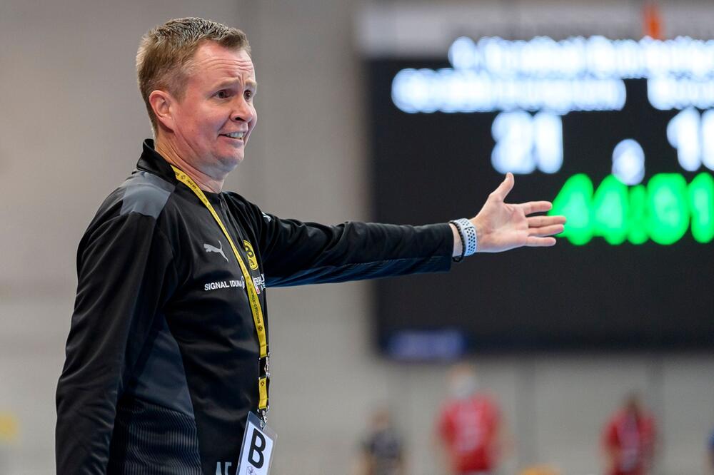
M233 473L268 409L266 287L448 270L452 256L555 244L550 203L472 220L325 226L222 191L256 126L245 34L203 19L149 31L136 58L156 142L82 238L57 389L61 474ZM463 235L463 238L461 235Z

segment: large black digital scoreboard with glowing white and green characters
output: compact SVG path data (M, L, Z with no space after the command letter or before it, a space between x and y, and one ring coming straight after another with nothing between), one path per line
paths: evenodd
M558 244L376 284L381 349L714 347L714 42L460 38L366 61L373 218L551 200Z

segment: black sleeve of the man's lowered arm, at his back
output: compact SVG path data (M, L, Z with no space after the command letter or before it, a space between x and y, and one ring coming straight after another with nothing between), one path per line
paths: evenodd
M154 218L127 213L90 225L77 274L57 387L56 466L58 474L105 474L117 403L176 272Z

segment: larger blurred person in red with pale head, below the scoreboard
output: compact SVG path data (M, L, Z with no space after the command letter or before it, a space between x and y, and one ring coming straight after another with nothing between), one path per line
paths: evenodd
M437 422L438 446L452 475L495 474L503 453L501 414L480 391L470 364L448 374L449 395Z

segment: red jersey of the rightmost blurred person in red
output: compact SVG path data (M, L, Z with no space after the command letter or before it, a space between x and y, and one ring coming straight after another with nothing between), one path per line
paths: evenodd
M615 466L608 475L645 475L646 461L651 458L655 443L654 419L649 414L635 418L620 411L610 418L603 444L615 451Z

